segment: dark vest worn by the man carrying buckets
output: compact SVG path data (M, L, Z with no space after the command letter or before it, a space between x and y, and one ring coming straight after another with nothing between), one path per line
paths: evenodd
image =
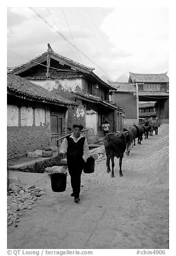
M67 157L71 157L73 155L83 157L83 147L85 138L80 138L77 143L72 138L70 138L70 136L66 138L68 142Z

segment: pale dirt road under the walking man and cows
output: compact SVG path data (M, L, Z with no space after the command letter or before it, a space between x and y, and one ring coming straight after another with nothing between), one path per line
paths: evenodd
M82 175L80 203L67 190L47 195L8 227L8 248L168 248L168 125L136 145L115 177L105 160Z

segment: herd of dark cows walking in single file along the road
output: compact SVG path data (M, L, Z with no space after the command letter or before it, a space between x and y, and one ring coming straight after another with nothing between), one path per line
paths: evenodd
M134 125L131 126L129 129L123 128L122 132L117 133L108 133L104 138L104 146L106 151L106 165L107 165L107 172L111 172L111 168L109 166L110 159L112 162L112 173L111 177L114 177L114 157L119 158L119 174L122 174L122 159L123 154L126 151L127 155L130 153L130 148L135 146L136 139L137 143L141 144L142 137L144 134L144 138L148 139L149 134L153 135L154 127L152 125Z

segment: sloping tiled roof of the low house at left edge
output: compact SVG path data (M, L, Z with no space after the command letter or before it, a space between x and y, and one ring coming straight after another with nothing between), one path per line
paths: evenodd
M48 91L47 89L27 81L18 75L8 74L7 78L9 94L13 93L21 98L28 97L37 101L45 101L62 106L77 105L75 102L56 96L52 91Z

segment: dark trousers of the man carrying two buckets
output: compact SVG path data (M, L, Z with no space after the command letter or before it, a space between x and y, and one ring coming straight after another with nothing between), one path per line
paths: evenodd
M80 176L83 172L84 159L82 157L67 157L67 166L71 177L71 187L75 198L79 198Z

